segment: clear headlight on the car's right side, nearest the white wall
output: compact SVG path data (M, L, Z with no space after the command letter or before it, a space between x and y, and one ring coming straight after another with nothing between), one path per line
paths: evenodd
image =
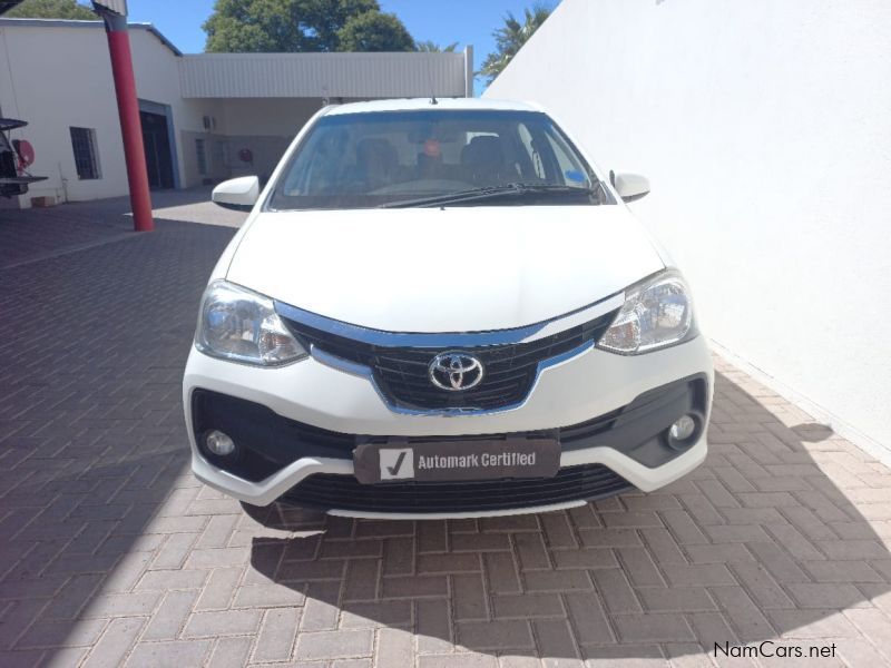
M625 304L597 345L638 355L696 334L689 288L678 272L668 269L625 291Z

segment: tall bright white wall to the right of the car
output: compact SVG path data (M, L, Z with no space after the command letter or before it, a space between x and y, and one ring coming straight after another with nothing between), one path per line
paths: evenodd
M887 0L564 0L487 96L649 176L707 333L891 449L889 35Z

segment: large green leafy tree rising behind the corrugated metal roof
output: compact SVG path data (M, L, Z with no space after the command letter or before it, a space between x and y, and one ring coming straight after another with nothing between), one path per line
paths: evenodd
M411 40L399 19L381 13L378 0L216 0L204 23L205 50L210 52L343 51L363 43L374 50L405 50L400 29ZM395 41L389 42L388 36ZM344 37L349 41L342 43Z

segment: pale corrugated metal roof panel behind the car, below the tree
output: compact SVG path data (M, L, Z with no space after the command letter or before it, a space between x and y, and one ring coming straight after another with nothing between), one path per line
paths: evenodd
M202 53L185 56L186 98L463 97L463 53Z

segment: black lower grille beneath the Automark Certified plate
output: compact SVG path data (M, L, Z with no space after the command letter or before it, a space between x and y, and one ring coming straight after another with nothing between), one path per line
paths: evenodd
M611 497L633 485L601 464L560 469L554 478L362 484L352 475L315 473L282 501L362 512L480 512Z

